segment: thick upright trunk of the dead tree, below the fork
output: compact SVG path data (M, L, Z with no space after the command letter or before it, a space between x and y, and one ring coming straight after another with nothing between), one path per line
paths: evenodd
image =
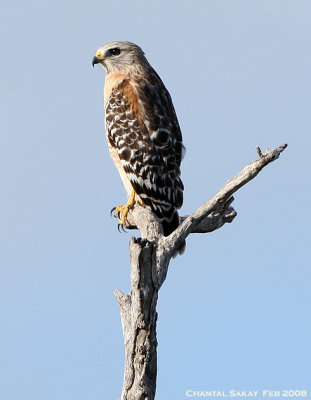
M114 292L120 306L125 348L122 400L153 399L155 394L158 288L152 251L150 242L131 238L131 292Z

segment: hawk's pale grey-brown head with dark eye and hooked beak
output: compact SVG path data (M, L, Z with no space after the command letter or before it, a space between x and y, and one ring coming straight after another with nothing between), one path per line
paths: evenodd
M142 49L131 42L110 42L100 46L93 58L92 65L100 64L107 73L130 72L139 66L148 64Z

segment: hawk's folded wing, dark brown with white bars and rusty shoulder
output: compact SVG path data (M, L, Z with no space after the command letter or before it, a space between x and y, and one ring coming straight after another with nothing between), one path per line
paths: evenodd
M179 224L183 203L183 145L171 97L155 71L124 79L106 103L109 144L119 155L135 192L161 219L164 234Z

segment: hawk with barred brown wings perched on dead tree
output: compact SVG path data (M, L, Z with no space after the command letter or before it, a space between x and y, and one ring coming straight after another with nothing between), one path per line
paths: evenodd
M98 48L92 65L106 70L105 127L110 155L129 199L116 207L125 224L138 201L150 207L168 236L183 203L182 135L171 96L142 49L131 42Z

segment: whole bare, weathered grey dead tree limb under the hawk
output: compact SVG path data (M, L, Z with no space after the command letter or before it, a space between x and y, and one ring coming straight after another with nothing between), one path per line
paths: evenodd
M139 229L141 237L131 238L131 291L114 292L120 306L125 347L125 368L121 400L153 400L157 375L156 305L169 262L190 233L207 233L233 221L233 193L254 179L269 163L279 158L286 144L267 150L230 179L210 200L164 237L158 218L140 205L129 212L128 229Z

